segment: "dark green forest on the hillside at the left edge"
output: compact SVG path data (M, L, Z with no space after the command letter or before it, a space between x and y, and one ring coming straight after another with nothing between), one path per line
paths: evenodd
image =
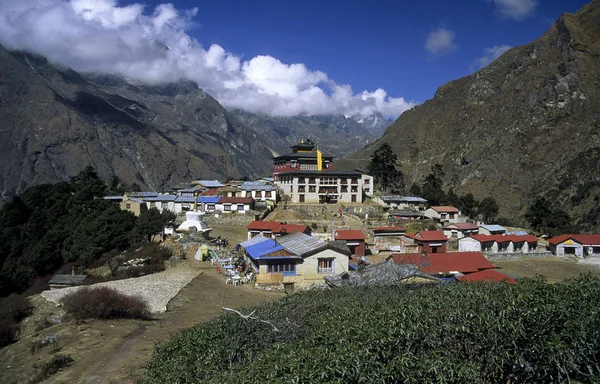
M33 186L0 210L0 296L22 293L67 263L86 265L148 241L172 214L136 218L101 197L115 190L87 167L69 182ZM121 188L121 187L119 187Z

